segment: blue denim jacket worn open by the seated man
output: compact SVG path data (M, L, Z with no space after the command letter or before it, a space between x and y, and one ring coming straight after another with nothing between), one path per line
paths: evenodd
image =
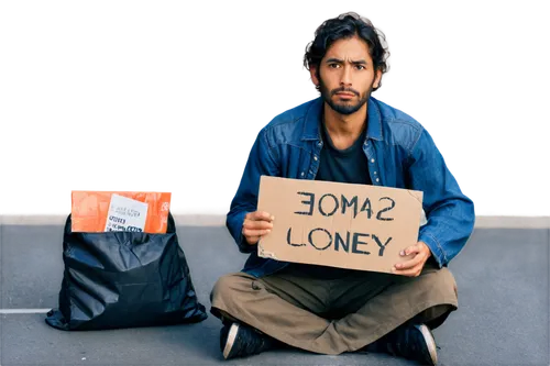
M250 254L242 271L271 275L288 263L257 256L242 235L248 212L256 210L262 175L315 179L323 142L321 97L306 99L273 115L254 134L227 211L227 228L241 253ZM459 254L474 228L476 207L449 167L431 132L414 115L388 101L367 101L363 151L373 185L424 192L426 223L418 240L431 249L439 268ZM416 244L416 243L411 243Z

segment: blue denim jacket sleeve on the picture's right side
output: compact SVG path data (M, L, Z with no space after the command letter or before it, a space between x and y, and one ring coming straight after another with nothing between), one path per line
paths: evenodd
M426 127L410 152L408 174L411 189L424 191L427 222L420 228L418 240L429 246L441 268L470 239L475 222L475 203Z

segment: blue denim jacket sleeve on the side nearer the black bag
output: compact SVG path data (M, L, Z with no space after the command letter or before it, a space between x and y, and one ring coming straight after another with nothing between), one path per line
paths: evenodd
M268 144L266 130L267 126L262 125L254 134L228 207L226 226L241 253L252 253L256 249L255 245L246 243L242 235L242 225L246 213L256 211L260 177L279 175L279 164L273 146Z

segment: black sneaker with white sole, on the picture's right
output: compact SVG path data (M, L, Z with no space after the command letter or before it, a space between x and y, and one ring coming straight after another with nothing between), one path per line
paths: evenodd
M438 363L439 348L430 329L425 324L402 325L376 341L377 347L393 356L420 362L435 366Z

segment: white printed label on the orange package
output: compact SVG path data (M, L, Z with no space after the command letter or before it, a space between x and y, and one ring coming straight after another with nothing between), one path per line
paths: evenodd
M112 195L105 231L143 232L148 204L131 198Z

